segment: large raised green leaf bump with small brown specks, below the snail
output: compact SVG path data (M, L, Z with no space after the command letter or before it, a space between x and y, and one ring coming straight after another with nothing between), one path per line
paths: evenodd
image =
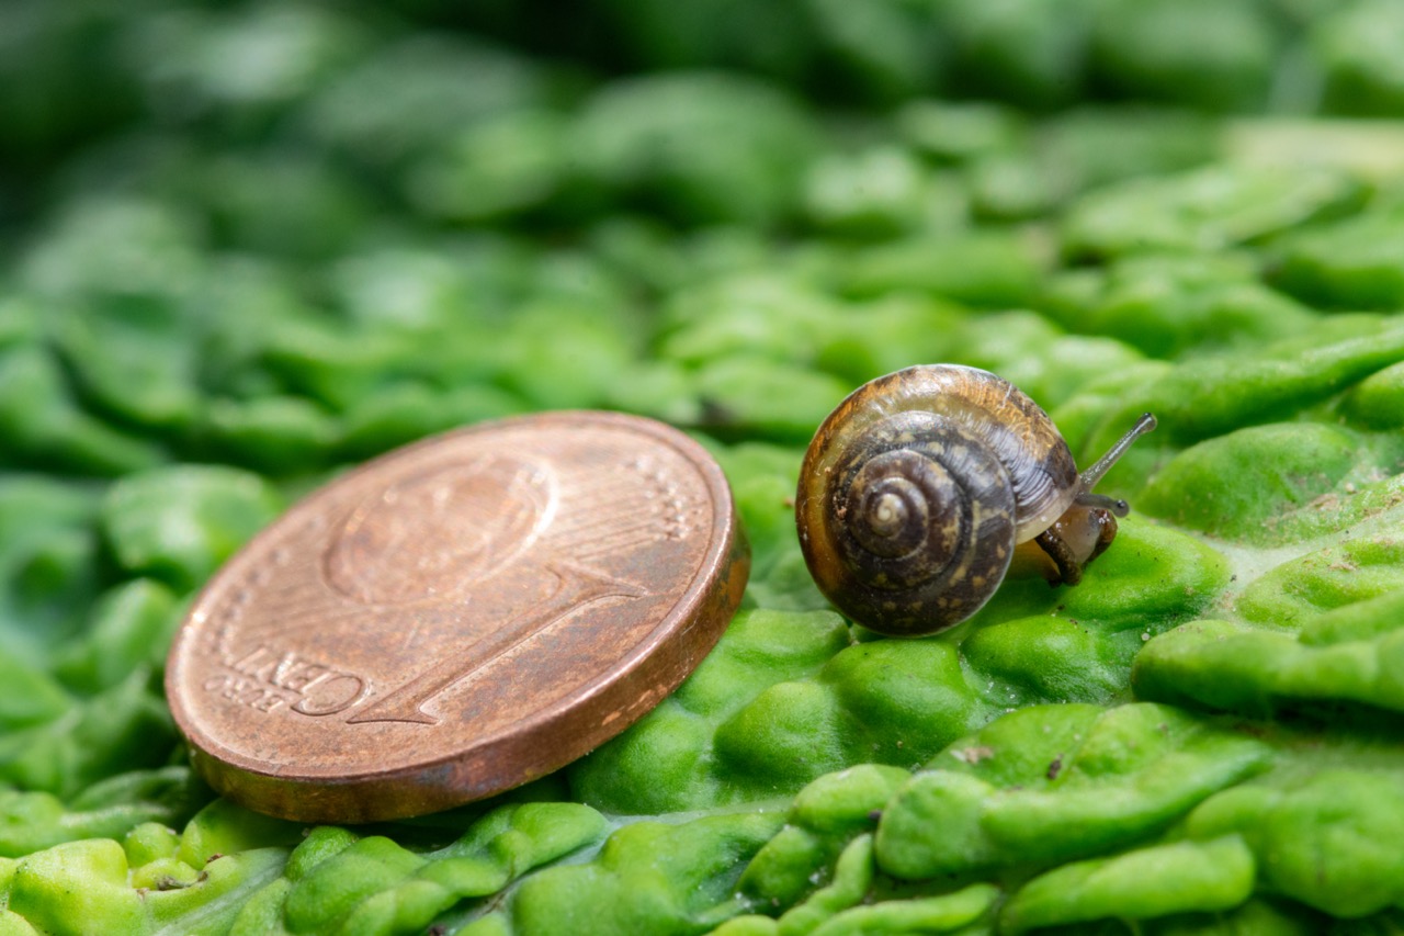
M1251 736L1174 708L1022 708L897 790L878 854L910 880L1097 854L1155 832L1266 760Z

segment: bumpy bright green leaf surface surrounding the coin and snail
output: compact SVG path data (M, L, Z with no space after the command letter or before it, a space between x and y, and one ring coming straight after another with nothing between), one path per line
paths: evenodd
M1404 6L536 6L8 4L0 936L1404 930ZM793 498L935 361L1080 465L1160 424L1081 585L890 639ZM400 822L192 776L222 562L573 408L730 481L751 579L675 693Z

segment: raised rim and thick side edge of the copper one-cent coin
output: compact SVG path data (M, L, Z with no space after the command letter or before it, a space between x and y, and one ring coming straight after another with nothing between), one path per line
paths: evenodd
M184 661L194 656L185 648L192 645L202 627L194 618L206 603L213 602L216 590L227 587L225 580L234 569L265 551L264 544L292 521L289 517L300 517L309 503L340 485L351 485L386 464L455 438L503 429L573 430L591 424L639 431L670 446L695 467L712 496L710 540L688 587L653 630L612 666L550 706L532 710L508 728L473 739L466 748L390 772L362 770L334 777L288 774L284 769L268 769L267 762L230 749L198 725L199 720L185 706L187 694L194 690L181 686L183 680L192 677L185 672ZM671 693L720 639L740 604L748 575L750 548L726 475L712 454L681 430L654 419L607 410L555 410L475 423L402 446L358 465L300 498L244 544L211 576L181 620L167 655L166 698L190 745L194 769L216 791L236 802L298 821L410 818L505 793L564 767L621 734ZM194 670L195 663L191 662L188 669ZM636 684L640 672L647 680L642 689ZM542 750L549 756L542 756ZM517 765L517 769L503 765ZM496 773L493 766L498 767ZM498 781L486 783L482 776L465 776L475 767L486 770L487 779L500 777Z

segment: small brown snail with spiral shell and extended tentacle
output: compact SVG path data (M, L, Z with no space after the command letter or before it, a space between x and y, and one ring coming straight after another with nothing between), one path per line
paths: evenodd
M1078 472L1053 420L1004 378L955 364L879 377L828 415L804 454L804 561L841 611L899 637L966 620L1011 564L1077 585L1129 512L1092 488L1154 427L1146 413Z

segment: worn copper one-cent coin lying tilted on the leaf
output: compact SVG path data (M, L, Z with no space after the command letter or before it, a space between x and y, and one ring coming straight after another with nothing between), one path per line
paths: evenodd
M543 413L382 455L195 600L166 694L244 805L366 822L563 767L701 662L750 569L722 469L636 416Z

